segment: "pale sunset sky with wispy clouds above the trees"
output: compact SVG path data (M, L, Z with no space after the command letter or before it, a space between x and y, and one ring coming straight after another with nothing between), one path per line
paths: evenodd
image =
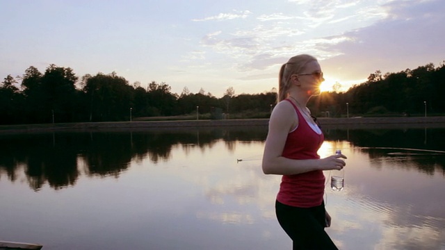
M292 56L322 90L445 60L443 0L0 0L0 77L49 65L222 97L277 88Z

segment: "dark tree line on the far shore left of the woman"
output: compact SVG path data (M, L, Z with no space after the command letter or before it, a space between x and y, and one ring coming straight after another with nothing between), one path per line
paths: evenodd
M20 81L20 83L19 83ZM49 65L44 73L29 67L23 76L6 76L0 85L0 124L51 122L118 122L135 117L270 112L275 93L239 94L234 88L216 98L204 90L193 94L184 88L171 92L166 83L152 81L147 88L130 85L122 76L97 73L77 77L70 67Z

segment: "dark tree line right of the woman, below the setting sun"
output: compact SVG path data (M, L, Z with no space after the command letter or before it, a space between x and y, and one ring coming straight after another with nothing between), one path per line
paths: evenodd
M347 92L322 93L313 105L319 115L334 117L443 115L445 113L445 61L416 69L370 74L365 83Z

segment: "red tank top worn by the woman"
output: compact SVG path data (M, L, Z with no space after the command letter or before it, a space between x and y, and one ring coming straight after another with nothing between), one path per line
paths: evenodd
M323 144L324 135L318 135L307 124L300 110L289 101L298 115L298 127L287 135L282 156L290 159L319 159L318 149ZM311 208L321 205L325 191L325 176L322 170L302 174L284 175L277 194L277 201L289 206Z

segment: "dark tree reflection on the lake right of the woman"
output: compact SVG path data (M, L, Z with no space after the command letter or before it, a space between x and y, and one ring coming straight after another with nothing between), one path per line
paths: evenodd
M368 153L375 167L382 160L391 160L400 167L414 165L424 174L442 169L445 176L444 128L331 129L326 140L345 140L347 136L354 147Z

